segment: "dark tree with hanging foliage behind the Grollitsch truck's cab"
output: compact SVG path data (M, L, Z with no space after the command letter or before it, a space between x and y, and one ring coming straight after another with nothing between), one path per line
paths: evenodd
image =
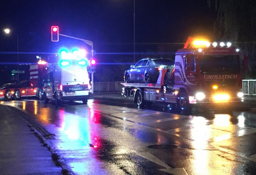
M245 78L256 79L256 1L208 0L208 5L215 5L217 11L215 32L219 39L233 41L247 55Z

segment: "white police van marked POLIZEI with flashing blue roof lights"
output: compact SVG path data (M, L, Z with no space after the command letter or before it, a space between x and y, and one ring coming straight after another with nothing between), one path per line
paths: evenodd
M48 67L44 83L45 103L50 99L55 100L56 104L62 100L82 100L87 103L90 95L90 79L84 61L79 61L78 64L62 61Z

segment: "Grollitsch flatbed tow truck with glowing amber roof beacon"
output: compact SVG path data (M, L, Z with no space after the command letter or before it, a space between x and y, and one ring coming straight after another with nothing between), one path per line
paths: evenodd
M230 42L189 37L176 51L174 67L163 68L156 84L121 83L122 95L134 96L140 107L162 102L184 113L193 106L234 107L243 101L240 55Z

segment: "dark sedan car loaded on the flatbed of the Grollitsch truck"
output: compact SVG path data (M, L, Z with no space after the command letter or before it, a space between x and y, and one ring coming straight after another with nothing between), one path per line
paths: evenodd
M172 59L143 58L135 66L131 65L131 68L125 71L124 79L126 83L156 83L161 69L173 66Z

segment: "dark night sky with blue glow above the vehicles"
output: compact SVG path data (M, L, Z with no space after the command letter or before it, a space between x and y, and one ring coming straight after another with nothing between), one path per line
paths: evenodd
M90 52L89 45L72 38L59 36L59 42L52 42L51 26L59 26L61 34L92 41L98 62L113 62L124 56L120 53L133 62L133 5L133 0L1 1L1 30L9 27L12 32L0 34L0 62L17 61L17 36L19 62L36 62L36 55L56 53L62 46ZM145 53L164 44L174 53L183 44L168 43L184 43L197 35L216 38L215 19L207 0L135 0L135 51Z

